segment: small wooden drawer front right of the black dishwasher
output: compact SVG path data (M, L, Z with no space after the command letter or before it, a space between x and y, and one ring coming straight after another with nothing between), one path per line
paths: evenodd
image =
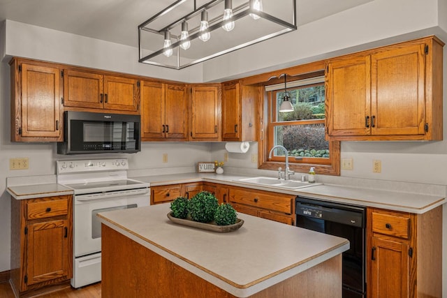
M373 232L408 239L410 224L408 214L372 212Z

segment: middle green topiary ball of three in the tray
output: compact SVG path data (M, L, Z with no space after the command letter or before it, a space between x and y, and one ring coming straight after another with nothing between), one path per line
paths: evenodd
M212 193L201 191L189 201L189 214L193 221L210 223L214 220L217 207L219 207L217 198Z

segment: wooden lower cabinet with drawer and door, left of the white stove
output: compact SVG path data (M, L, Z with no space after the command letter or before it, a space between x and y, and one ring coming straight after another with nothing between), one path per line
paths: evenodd
M10 284L20 296L72 276L72 197L11 198Z

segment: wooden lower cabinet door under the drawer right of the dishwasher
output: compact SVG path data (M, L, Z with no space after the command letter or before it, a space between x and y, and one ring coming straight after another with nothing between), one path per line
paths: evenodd
M371 297L408 297L409 245L372 237L371 253L368 285Z

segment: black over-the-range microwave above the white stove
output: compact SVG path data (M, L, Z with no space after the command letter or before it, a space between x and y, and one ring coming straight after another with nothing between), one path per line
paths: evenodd
M58 154L135 153L140 148L140 115L64 112Z

